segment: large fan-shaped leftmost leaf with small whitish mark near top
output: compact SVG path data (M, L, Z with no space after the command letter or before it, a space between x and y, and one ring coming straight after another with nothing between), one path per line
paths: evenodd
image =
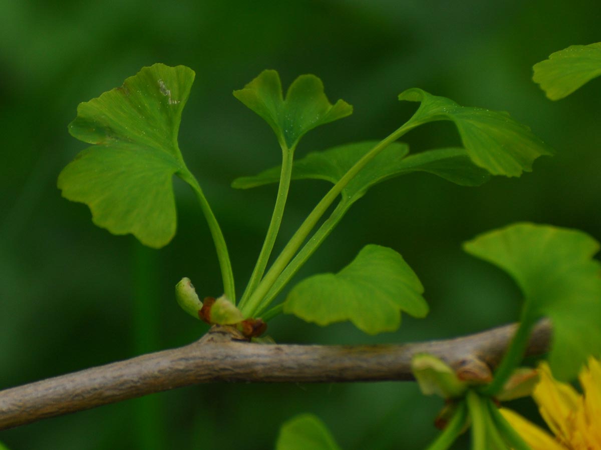
M79 104L69 131L94 146L60 173L63 196L86 203L94 223L111 233L166 245L175 234L171 179L185 170L177 133L192 82L188 67L154 64Z

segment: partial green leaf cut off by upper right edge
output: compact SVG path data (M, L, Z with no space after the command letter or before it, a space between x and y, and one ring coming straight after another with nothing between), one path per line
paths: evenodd
M534 64L532 80L551 100L560 100L601 75L601 42L570 46Z

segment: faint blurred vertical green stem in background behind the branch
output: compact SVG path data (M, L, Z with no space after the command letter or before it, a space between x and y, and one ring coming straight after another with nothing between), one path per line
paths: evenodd
M159 254L135 241L133 248L133 352L136 355L159 349L160 289ZM160 450L166 445L163 404L157 395L136 398L132 407L136 442L140 448Z

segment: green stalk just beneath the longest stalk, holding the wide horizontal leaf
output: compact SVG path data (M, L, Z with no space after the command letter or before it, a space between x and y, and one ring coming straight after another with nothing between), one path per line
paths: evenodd
M332 211L330 217L328 217L328 219L324 221L322 226L319 227L319 229L315 232L311 239L309 239L307 244L305 244L301 248L299 253L297 253L296 256L294 256L294 259L291 260L290 264L288 264L284 271L282 271L282 273L279 274L279 277L275 280L275 283L273 283L273 286L271 287L269 292L267 292L267 295L259 305L257 310L257 316L260 316L260 314L265 310L265 308L267 308L267 306L273 301L273 299L275 299L276 296L278 296L281 290L284 289L284 286L288 284L288 281L290 281L290 279L294 277L296 272L304 265L305 262L307 262L311 255L315 253L317 248L319 248L319 246L322 245L322 242L325 241L325 239L329 236L334 227L337 226L338 222L340 222L340 220L344 217L344 214L346 214L350 206L351 203L344 202L344 200L338 203L334 211Z

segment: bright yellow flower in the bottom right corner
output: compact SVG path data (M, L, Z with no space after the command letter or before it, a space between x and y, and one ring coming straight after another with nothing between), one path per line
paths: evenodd
M555 435L508 409L502 415L533 450L601 450L601 363L589 358L579 380L584 393L554 379L549 366L539 367L540 381L532 392L549 429Z

